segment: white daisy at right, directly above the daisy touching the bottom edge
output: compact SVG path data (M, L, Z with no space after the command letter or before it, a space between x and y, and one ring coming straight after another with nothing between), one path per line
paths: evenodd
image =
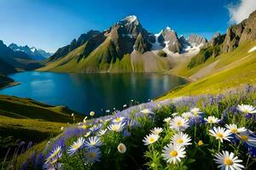
M219 139L221 142L223 142L223 140L230 141L230 138L232 138L230 136L230 130L227 130L223 127L213 127L213 129L209 130L209 132L211 136L215 137L216 139Z

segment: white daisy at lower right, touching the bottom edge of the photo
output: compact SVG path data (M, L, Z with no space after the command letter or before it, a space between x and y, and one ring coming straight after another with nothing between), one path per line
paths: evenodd
M222 153L219 152L215 154L215 158L214 161L218 164L218 168L220 169L241 170L244 168L244 166L241 165L242 161L238 159L233 152L223 150Z

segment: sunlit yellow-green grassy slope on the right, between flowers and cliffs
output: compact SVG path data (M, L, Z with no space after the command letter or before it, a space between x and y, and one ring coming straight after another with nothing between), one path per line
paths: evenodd
M190 94L218 94L228 88L256 84L256 51L248 53L255 46L256 42L244 43L229 54L211 57L204 64L187 70L185 76L197 77L197 80L176 88L160 99Z

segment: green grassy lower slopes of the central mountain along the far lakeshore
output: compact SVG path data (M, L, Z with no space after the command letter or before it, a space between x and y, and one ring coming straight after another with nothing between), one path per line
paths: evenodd
M87 43L76 48L64 58L49 63L38 71L56 72L157 72L170 69L169 60L148 52L140 54L133 52L119 56L113 42L106 39L86 58L81 57ZM81 59L82 58L82 59Z

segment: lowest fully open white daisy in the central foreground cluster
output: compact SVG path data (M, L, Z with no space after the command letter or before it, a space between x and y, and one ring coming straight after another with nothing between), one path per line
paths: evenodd
M162 156L167 163L176 164L186 155L185 148L180 144L167 144L162 150Z

